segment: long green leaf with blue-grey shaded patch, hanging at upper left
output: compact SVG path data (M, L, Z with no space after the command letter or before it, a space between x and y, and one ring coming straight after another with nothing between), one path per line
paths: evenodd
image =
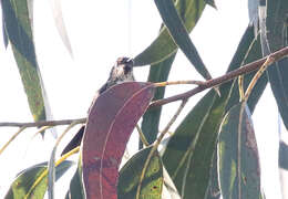
M35 59L27 1L1 0L4 30L18 64L34 121L45 119L44 88Z

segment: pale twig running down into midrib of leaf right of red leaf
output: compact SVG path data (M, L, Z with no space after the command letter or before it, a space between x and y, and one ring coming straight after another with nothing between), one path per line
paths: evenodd
M182 112L182 109L184 108L184 106L186 105L187 103L187 98L186 100L183 100L178 109L176 111L176 113L174 114L174 116L171 118L169 123L166 125L166 127L164 128L164 130L161 133L161 135L158 136L158 138L156 139L156 143L153 145L150 154L148 154L148 157L147 159L145 160L145 164L143 166L143 169L142 169L142 174L141 174L141 177L140 177L140 181L138 181L138 186L137 186L137 192L136 192L136 199L140 198L140 191L141 191L141 187L142 187L142 181L144 180L144 176L145 176L145 172L148 168L148 164L152 159L152 156L153 154L156 151L156 149L158 148L163 137L166 135L166 133L169 130L169 127L173 125L173 123L176 121L176 118L178 117L179 113Z

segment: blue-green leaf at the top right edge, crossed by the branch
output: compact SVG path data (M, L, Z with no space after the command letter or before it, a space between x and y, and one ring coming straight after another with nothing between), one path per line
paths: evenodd
M285 29L288 18L288 1L267 1L267 6L264 4L260 9L261 45L264 55L267 55L287 45ZM288 69L286 65L288 65L287 57L270 65L267 71L278 109L288 129L288 80L286 78Z

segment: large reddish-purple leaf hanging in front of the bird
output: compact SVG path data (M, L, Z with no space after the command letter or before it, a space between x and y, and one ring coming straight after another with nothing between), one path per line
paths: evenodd
M83 138L83 181L88 198L116 198L119 165L126 143L154 94L151 83L126 82L92 105Z

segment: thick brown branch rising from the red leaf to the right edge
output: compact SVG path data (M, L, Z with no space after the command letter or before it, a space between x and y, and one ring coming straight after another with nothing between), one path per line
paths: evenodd
M198 85L197 87L195 87L195 88L193 88L188 92L185 92L185 93L182 93L182 94L178 94L178 95L174 95L174 96L171 96L171 97L167 97L167 98L154 101L150 105L150 108L154 107L154 106L162 106L162 105L175 102L175 101L188 98L188 97L191 97L191 96L193 96L197 93L203 92L204 90L207 90L207 88L217 86L219 84L223 84L225 82L228 82L228 81L230 81L230 80L233 80L233 78L235 78L239 75L247 74L247 73L250 73L253 71L259 70L268 57L272 59L274 62L277 62L277 61L284 59L286 55L288 55L288 46L281 49L279 51L276 51L276 52L274 52L274 53L271 53L271 54L269 54L269 55L267 55L267 56L265 56L260 60L248 63L248 64L246 64L246 65L244 65L244 66L241 66L237 70L228 72L223 76L206 81L202 85ZM270 64L272 64L274 62L271 62Z

